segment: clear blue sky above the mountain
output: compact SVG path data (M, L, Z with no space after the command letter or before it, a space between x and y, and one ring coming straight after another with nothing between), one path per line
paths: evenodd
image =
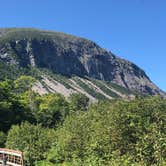
M0 27L35 27L95 41L166 90L166 0L2 0Z

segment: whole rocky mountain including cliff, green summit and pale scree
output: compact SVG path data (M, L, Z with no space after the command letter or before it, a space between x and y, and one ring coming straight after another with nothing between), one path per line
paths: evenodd
M40 93L69 96L81 92L91 99L124 97L133 92L165 95L137 65L92 41L64 33L0 29L0 62L21 69L36 68L41 78L33 89Z

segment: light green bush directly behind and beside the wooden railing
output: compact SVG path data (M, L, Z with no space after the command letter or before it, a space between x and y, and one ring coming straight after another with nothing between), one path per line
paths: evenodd
M48 149L54 140L54 130L43 129L41 125L22 123L21 126L12 126L6 147L24 152L26 165L34 165L35 161L46 158Z

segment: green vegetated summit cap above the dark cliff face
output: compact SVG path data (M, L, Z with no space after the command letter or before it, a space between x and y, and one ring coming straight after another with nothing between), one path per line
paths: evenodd
M11 41L17 40L49 40L61 45L64 48L70 48L70 43L75 42L78 43L79 41L86 43L90 43L91 41L86 40L84 38L76 37L73 35L68 35L61 32L53 32L53 31L45 31L39 30L35 28L6 28L0 29L3 31L3 35L0 38L0 44L5 44Z

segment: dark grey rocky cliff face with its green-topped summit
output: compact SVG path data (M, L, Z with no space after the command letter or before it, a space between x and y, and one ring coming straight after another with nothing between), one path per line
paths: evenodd
M47 68L66 75L111 81L146 94L164 93L135 64L94 42L36 29L1 29L0 60L20 67Z

